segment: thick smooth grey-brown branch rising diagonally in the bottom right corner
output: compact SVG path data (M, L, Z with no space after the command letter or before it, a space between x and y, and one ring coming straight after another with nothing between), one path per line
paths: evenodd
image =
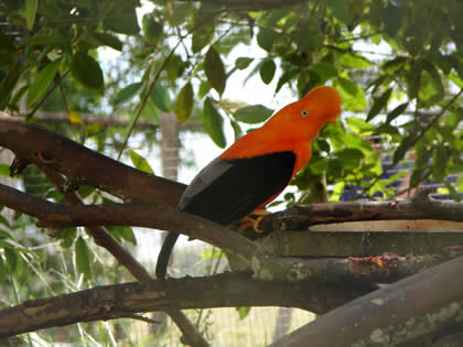
M352 301L287 335L272 347L396 346L461 324L463 257Z

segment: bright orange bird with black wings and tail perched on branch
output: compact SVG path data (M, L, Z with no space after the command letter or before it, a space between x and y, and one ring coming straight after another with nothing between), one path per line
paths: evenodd
M311 143L326 123L336 122L341 98L319 87L273 115L207 164L183 193L177 208L228 225L273 200L304 167ZM169 232L155 273L163 279L179 234Z

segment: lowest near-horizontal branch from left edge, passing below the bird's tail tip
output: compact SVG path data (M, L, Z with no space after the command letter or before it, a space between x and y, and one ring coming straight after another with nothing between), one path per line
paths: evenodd
M323 313L362 293L348 286L252 281L243 273L103 285L0 311L0 337L160 310L281 305Z

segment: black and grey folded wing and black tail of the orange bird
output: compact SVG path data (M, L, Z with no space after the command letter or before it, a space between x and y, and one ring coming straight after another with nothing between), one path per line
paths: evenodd
M254 158L216 158L186 187L179 209L227 225L241 219L289 184L295 154L277 152ZM165 278L179 234L169 232L158 256L155 273Z

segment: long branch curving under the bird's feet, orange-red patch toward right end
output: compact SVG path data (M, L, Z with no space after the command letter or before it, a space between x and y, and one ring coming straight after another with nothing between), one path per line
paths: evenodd
M394 282L400 278L444 261L443 258L385 256L372 261L349 259L279 258L266 253L255 242L209 220L170 207L133 204L69 206L53 204L0 185L0 203L41 218L41 226L134 225L163 229L173 227L211 242L239 257L258 279L298 282ZM369 259L369 258L368 258Z

